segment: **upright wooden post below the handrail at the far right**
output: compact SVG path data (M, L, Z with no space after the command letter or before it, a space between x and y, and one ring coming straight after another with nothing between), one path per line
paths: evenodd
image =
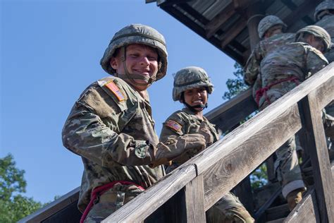
M321 222L334 222L334 181L330 170L326 136L323 131L321 107L318 104L320 97L326 97L326 95L322 94L323 91L321 88L309 93L302 100L299 107L302 110L303 127L307 132L307 145L305 149L308 150L311 157ZM320 95L317 95L317 93L320 93ZM333 97L333 95L330 95L330 97Z

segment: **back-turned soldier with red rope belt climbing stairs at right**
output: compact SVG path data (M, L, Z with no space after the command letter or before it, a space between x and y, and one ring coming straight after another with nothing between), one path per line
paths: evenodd
M261 88L256 102L262 110L295 88L309 76L328 64L322 52L330 47L330 36L316 25L309 25L296 33L296 42L285 44L270 52L261 61ZM283 186L290 210L302 200L304 182L295 151L295 137L277 151L275 162L278 180Z

